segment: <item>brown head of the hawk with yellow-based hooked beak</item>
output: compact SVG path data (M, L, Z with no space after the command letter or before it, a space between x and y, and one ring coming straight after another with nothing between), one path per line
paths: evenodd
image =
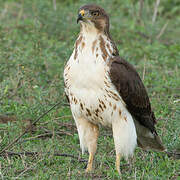
M82 28L96 28L101 32L109 32L109 17L105 10L97 5L84 5L78 10L77 23Z

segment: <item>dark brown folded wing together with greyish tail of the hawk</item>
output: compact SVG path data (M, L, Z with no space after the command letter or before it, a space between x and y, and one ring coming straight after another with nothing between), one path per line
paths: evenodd
M126 103L128 111L140 125L145 127L138 128L139 126L136 124L138 146L143 149L165 150L156 132L155 124L157 121L139 74L131 64L119 56L112 58L110 64L112 83ZM153 139L143 136L143 133L148 132L146 128L154 135Z

